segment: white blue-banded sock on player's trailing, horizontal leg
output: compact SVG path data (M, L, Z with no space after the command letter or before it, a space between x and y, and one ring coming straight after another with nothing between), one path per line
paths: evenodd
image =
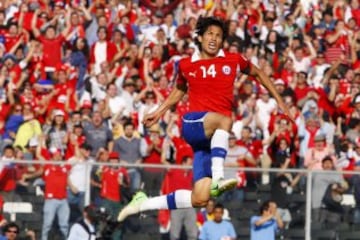
M140 212L178 208L192 208L190 190L177 190L168 195L149 198L141 204Z

